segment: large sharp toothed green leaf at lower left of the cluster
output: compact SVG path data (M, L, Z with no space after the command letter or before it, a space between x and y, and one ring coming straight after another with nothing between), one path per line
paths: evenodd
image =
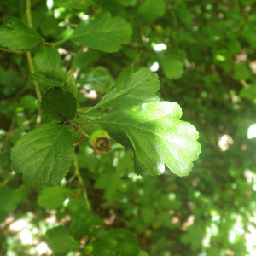
M10 159L15 172L31 186L55 186L73 160L73 137L65 125L42 125L15 143Z

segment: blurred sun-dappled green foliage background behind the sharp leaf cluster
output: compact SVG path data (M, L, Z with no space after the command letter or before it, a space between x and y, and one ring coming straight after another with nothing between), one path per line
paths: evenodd
M183 108L183 119L200 133L202 150L187 177L172 172L140 177L133 172L131 150L113 142L109 154L96 155L84 138L76 155L91 212L86 210L79 181L73 179L74 166L61 183L67 190L28 187L13 172L9 154L20 137L35 128L38 100L28 82L26 55L4 51L3 47L12 49L14 42L1 44L0 38L0 254L37 255L46 241L56 255L68 256L126 255L123 247L116 246L118 242L134 247L135 253L127 255L254 255L256 144L255 138L247 139L247 129L256 123L254 1L50 3L32 1L32 24L39 35L15 42L26 49L28 43L37 45L40 35L47 43L62 41L55 48L37 45L31 49L37 72L62 83L72 69L79 86L79 106L86 108L100 101L125 67L132 64L137 71L157 62L158 96ZM25 0L3 1L0 20L8 20L2 30L14 26L20 36L23 24L16 23L19 18L26 24L25 11ZM108 48L112 53L100 51L102 42L91 44L91 38L89 42L74 36L67 40L81 20L91 32L88 24L98 15L108 16L107 30L116 16L120 27L132 27L133 34L125 34L123 41L114 35ZM43 94L47 85L40 84L40 90ZM43 117L42 124L46 122ZM73 136L79 141L77 134ZM139 253L127 230L137 237ZM49 255L49 251L41 252Z

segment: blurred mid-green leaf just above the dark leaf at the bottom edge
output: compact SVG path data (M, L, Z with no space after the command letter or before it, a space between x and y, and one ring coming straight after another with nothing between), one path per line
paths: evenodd
M90 227L102 224L102 219L88 210L79 210L71 213L69 231L75 237L86 235Z

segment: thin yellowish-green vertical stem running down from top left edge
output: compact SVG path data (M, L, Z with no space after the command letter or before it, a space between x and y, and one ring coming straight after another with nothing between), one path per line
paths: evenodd
M30 0L26 0L26 19L27 19L27 26L31 27L32 28L32 17L31 17L31 2ZM32 56L31 56L31 52L30 50L27 50L26 51L26 58L27 58L27 61L28 61L28 65L29 65L29 68L30 68L30 71L31 73L34 73L35 72L35 69L34 69L34 66L33 66L33 62L32 62ZM34 88L36 90L36 95L38 97L38 102L40 103L41 100L42 100L42 96L41 96L41 93L40 93L40 90L39 90L39 84L38 82L33 82L34 84ZM38 127L41 123L41 117L42 117L42 110L41 108L39 107L38 109L38 118L37 118L37 123L36 123L36 126Z

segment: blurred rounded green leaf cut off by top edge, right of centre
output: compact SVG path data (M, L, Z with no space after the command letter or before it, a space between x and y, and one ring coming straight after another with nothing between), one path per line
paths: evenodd
M138 12L146 16L150 20L164 15L166 11L165 0L146 0L138 8Z

